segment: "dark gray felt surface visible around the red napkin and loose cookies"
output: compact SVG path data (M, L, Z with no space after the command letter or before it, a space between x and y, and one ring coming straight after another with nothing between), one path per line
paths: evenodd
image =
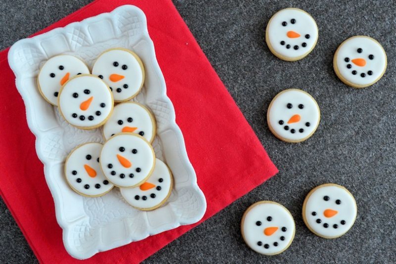
M0 48L89 2L1 0ZM395 3L174 0L174 4L280 172L146 262L395 262ZM287 7L307 11L319 27L316 48L293 63L274 57L264 42L268 20ZM354 35L377 39L388 56L384 77L362 90L342 84L332 68L337 46ZM276 139L266 123L271 99L292 87L309 92L322 112L317 132L300 144ZM312 234L301 217L305 195L326 182L347 187L358 206L355 225L333 240ZM295 239L280 255L259 255L242 240L242 214L259 200L280 202L295 218ZM0 208L0 262L37 261L3 201Z

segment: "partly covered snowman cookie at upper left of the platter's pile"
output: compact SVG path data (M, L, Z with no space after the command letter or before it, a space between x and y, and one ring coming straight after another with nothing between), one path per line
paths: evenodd
M78 74L89 74L88 67L81 60L71 55L52 57L39 72L39 91L45 100L57 106L62 85Z

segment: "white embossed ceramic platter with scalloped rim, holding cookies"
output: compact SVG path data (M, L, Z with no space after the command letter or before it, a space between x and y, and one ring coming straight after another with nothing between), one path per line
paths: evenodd
M168 201L153 211L134 209L123 200L118 188L102 197L87 198L69 187L63 174L67 154L79 144L103 142L101 130L86 131L70 126L37 88L37 74L49 58L74 55L92 69L99 54L115 47L130 49L143 61L146 79L134 101L152 110L157 122L155 154L169 166L174 177ZM36 135L37 155L44 163L63 241L73 257L88 258L179 225L195 223L203 217L207 207L205 196L196 184L173 105L166 96L154 45L148 36L146 17L140 9L122 6L111 13L20 40L11 47L8 58L25 101L29 128Z

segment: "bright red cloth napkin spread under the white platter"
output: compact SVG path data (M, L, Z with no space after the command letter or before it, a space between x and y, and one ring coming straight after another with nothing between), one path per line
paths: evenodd
M80 9L44 33L71 22L131 4L146 14L167 94L176 111L189 159L208 209L204 221L278 172L241 111L196 43L170 0L100 0ZM0 188L22 232L40 262L81 262L72 258L62 242L54 202L43 164L35 150L24 102L15 88L15 76L0 53ZM89 263L139 262L196 224L180 226L142 241L101 252Z

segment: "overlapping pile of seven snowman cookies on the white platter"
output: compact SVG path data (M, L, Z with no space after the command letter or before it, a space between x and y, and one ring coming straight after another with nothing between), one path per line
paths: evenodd
M65 161L65 177L77 193L98 197L114 186L133 207L152 210L169 197L173 179L151 146L156 122L136 102L144 83L144 66L132 51L103 52L92 68L70 55L49 59L37 81L46 101L79 129L101 127L106 142L76 147Z

